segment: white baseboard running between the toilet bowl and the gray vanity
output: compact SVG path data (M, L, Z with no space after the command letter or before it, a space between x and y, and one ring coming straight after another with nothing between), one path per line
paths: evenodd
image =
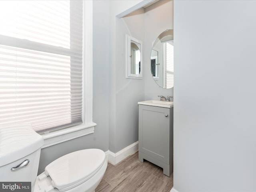
M113 153L110 150L106 151L106 156L108 156L108 162L112 165L118 164L120 161L124 160L126 157L136 153L138 151L139 142L136 141L133 144L130 144L126 148L118 151L117 153Z

